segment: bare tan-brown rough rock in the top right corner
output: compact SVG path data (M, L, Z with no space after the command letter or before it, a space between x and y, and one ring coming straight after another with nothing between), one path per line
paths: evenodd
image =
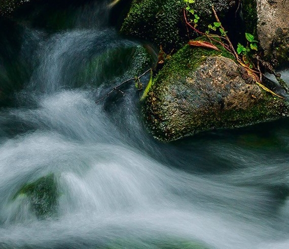
M275 65L289 61L289 0L257 0L260 45Z

